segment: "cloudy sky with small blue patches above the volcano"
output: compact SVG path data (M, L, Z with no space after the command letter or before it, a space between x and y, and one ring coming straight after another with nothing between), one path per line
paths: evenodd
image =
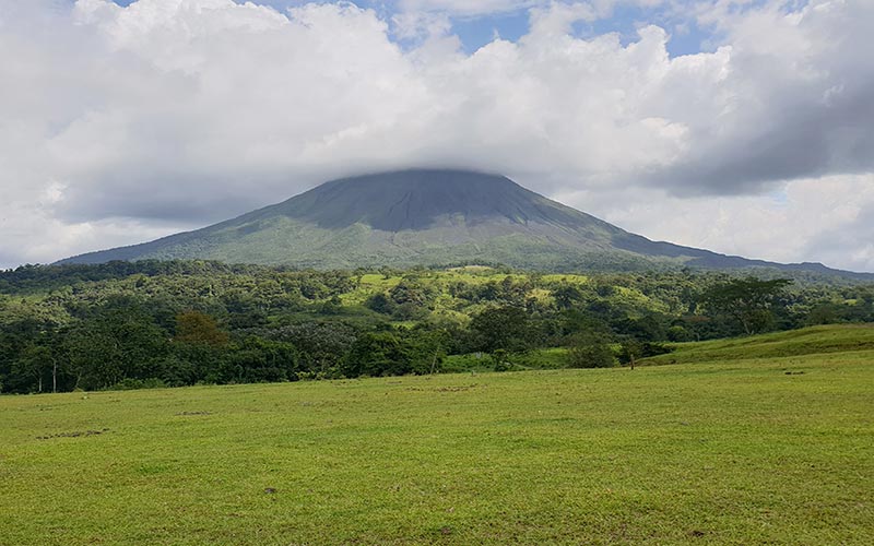
M0 269L452 167L874 272L872 28L871 0L0 0Z

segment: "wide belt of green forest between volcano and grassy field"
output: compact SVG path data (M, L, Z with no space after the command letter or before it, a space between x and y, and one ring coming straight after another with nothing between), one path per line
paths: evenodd
M0 272L0 392L612 366L867 321L874 285L749 272L26 265Z

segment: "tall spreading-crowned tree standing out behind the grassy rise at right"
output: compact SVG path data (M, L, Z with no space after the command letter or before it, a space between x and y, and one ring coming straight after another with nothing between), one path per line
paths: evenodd
M751 335L761 332L771 323L773 300L790 284L792 281L789 278L735 278L712 286L704 293L702 301L712 311L724 313L736 321Z

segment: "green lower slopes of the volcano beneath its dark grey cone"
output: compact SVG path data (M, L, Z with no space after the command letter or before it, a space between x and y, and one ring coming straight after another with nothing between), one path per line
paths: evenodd
M445 226L426 230L386 232L361 223L326 228L286 216L223 224L71 261L118 259L202 259L320 270L501 263L547 271L666 269L686 261L683 257L648 257L611 248L609 234L590 230L583 236L554 226L506 221L476 225L447 221Z

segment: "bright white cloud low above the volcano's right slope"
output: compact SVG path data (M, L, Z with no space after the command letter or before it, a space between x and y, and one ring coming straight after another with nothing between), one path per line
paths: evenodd
M874 271L874 175L782 182L764 194L680 198L661 189L570 191L563 202L654 240L781 262Z

